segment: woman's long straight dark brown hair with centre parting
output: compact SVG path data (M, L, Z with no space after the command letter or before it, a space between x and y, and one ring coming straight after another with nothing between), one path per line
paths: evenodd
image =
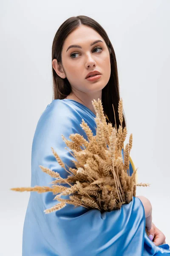
M102 28L102 26L97 23L95 20L88 16L79 15L76 17L70 17L65 20L64 23L59 27L57 30L53 44L52 44L52 60L54 58L57 59L59 63L62 63L61 59L61 52L62 46L65 41L65 38L74 31L77 27L81 25L86 25L99 33L102 38L105 40L105 43L108 47L110 52L110 61L111 61L111 76L108 81L108 84L102 89L102 106L104 113L108 116L109 121L112 123L112 126L115 126L115 119L114 119L114 111L116 116L116 125L117 129L119 128L119 113L118 113L118 105L119 105L119 78L118 78L118 71L117 71L117 62L116 56L111 44L111 41L108 38L107 33ZM65 99L71 92L71 85L67 78L62 79L57 75L53 66L52 66L52 74L53 74L53 99ZM113 107L112 107L113 104ZM108 120L107 120L108 122ZM122 127L126 126L125 122L125 115L123 114L123 123Z

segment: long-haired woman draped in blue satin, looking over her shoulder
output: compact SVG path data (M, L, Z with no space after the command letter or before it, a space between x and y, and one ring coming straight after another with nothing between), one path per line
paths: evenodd
M83 118L95 135L93 99L102 99L107 122L113 126L112 104L118 109L115 53L105 30L90 17L71 17L59 27L52 45L52 71L54 99L40 116L34 134L31 187L47 186L53 181L39 165L59 172L63 178L68 176L55 160L51 147L74 168L71 161L75 159L65 149L61 134L67 139L72 133L87 138L79 125ZM115 115L119 127L117 111ZM123 116L123 128L125 125ZM132 167L131 161L131 172ZM144 197L133 197L121 209L102 214L98 209L66 205L45 215L43 210L56 204L54 197L52 193L31 192L23 229L23 256L170 255L164 234L153 223L153 241L145 232Z

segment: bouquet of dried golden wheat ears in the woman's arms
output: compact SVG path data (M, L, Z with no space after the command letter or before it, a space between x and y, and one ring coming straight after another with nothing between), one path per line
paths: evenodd
M45 213L50 213L62 209L66 204L73 204L75 207L86 207L89 209L99 209L100 211L113 211L120 209L122 204L129 204L133 196L136 196L136 186L149 186L148 183L136 184L136 170L129 174L129 158L132 148L132 134L130 134L129 143L125 146L124 142L127 136L127 128L122 128L123 113L122 99L119 100L119 120L120 125L117 129L115 111L115 126L112 127L106 118L102 102L92 101L96 112L96 135L93 133L84 119L80 124L81 128L87 134L88 140L80 134L70 134L67 140L62 134L65 144L71 148L71 155L77 161L75 169L65 169L65 164L60 159L54 148L51 147L54 157L59 165L69 173L67 178L62 178L58 172L54 172L44 166L41 170L55 180L49 186L34 186L12 188L14 191L35 191L38 193L53 192L56 205L45 209ZM112 105L113 106L113 105ZM82 148L81 148L82 147ZM67 148L65 148L67 149ZM124 163L122 158L122 149L124 149ZM61 184L68 184L69 187ZM69 199L61 198L62 195L69 195Z

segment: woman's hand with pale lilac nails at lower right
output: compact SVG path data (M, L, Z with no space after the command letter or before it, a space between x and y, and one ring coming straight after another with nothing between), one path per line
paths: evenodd
M164 236L164 234L161 232L161 230L159 230L155 224L153 224L152 222L152 227L150 230L148 230L149 234L153 236L153 240L151 237L151 240L153 241L153 243L157 246L161 245L161 244L166 244L165 239L166 237Z

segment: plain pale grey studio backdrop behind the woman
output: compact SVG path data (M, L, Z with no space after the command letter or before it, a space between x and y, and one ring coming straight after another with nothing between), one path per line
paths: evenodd
M170 243L170 1L0 1L0 255L21 256L31 185L31 146L52 101L51 47L68 17L87 15L108 33L116 53L120 96L133 134L137 188L153 206L153 223ZM126 144L125 143L125 144ZM44 184L45 185L45 184Z

